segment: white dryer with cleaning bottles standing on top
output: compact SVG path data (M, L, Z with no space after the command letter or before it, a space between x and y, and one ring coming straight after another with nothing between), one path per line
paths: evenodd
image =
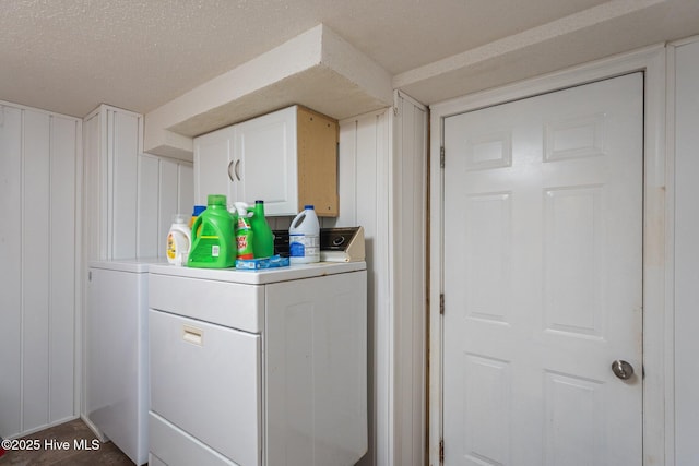
M150 272L151 466L350 466L367 451L364 262Z

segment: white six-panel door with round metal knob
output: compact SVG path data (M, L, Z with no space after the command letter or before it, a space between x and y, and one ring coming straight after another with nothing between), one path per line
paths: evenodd
M642 89L445 120L445 464L641 465Z

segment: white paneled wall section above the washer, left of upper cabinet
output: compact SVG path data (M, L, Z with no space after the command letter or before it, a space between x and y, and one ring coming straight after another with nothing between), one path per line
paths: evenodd
M85 118L85 261L165 255L173 215L191 214L192 164L141 154L141 115L102 105Z

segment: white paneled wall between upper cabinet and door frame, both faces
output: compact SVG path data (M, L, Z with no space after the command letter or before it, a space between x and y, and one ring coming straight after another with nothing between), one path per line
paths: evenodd
M340 122L340 216L362 225L368 270L369 452L359 465L423 465L426 447L427 110L394 108Z

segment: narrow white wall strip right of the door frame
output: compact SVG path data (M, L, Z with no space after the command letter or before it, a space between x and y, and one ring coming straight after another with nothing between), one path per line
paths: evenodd
M675 433L674 464L682 466L699 464L699 37L670 47L668 58L668 146L675 155L675 416L668 430Z

